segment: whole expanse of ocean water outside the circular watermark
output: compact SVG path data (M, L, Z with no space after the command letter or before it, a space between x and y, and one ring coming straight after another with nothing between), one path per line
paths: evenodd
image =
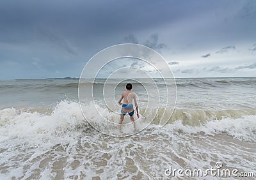
M102 105L99 89L104 82L93 84L95 103L100 113L118 122L119 117ZM163 90L162 82L156 82ZM116 101L125 83L116 87ZM176 83L177 103L165 126L159 127L158 116L164 110L160 105L145 130L112 137L84 119L77 79L0 80L0 179L171 179L165 174L170 167L216 169L217 162L221 169L252 172L255 178L256 78L176 79ZM91 85L89 80L84 86ZM140 114L146 116L145 89L138 82L133 89ZM81 105L91 116L97 113L94 103Z

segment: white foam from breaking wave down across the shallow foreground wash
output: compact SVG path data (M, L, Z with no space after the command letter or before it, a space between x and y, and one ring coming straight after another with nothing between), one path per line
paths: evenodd
M93 116L90 105L86 108ZM106 109L100 112L114 116ZM256 165L250 158L255 153L252 147L240 146L239 142L243 139L250 146L244 140L255 140L255 123L255 116L228 117L195 126L174 121L163 128L152 124L141 133L118 138L92 128L86 131L88 123L76 102L61 101L51 114L4 109L0 110L0 149L4 149L0 164L5 163L8 171L0 174L0 179L27 179L31 175L35 179L54 179L61 170L64 179L116 179L116 174L131 179L139 172L143 179L164 179L169 165L207 169L216 161L250 172ZM230 145L233 142L228 140L221 144L222 139L214 138L217 134L223 139L232 135L239 140L236 144ZM77 167L74 161L79 162ZM128 161L131 165L127 165ZM58 165L60 169L56 169Z

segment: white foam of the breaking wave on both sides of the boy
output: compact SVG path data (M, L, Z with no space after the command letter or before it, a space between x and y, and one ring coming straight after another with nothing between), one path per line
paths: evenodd
M95 114L99 113L94 112L93 110L95 109L92 106L94 105L88 103L88 105L83 107L86 117L91 119L98 117ZM100 111L102 116L108 118L109 121L118 123L120 117L116 113L109 112L108 109L99 105L97 105L97 110ZM236 119L223 117L223 119L216 121L205 120L202 123L198 121L199 124L198 122L193 124L193 122L173 121L164 127L173 131L182 130L186 133L204 132L208 135L224 132L236 138L252 140L255 139L255 117L243 116ZM100 123L100 119L95 119L95 122ZM132 130L132 123L129 120L127 122ZM137 124L138 126L141 125L139 122ZM0 140L29 138L29 142L40 144L46 141L54 141L54 139L61 138L61 135L63 135L65 142L67 142L67 131L71 130L72 132L70 131L70 133L76 133L76 128L88 127L90 126L86 123L79 104L74 101L61 101L54 107L51 114L16 110L14 108L0 110Z

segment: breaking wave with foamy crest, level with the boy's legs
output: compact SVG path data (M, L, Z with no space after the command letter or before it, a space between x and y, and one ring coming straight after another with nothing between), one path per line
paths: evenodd
M86 107L90 111L90 105ZM48 111L47 111L48 110ZM151 126L159 124L159 117L164 109L160 109ZM104 110L106 114L106 110ZM119 116L108 112L111 121L118 122ZM143 109L141 109L143 114ZM164 128L185 133L228 133L244 139L255 139L256 109L247 110L174 110L172 117ZM157 126L159 127L159 126ZM58 138L68 139L68 134L78 131L89 133L94 129L84 120L79 103L61 101L50 112L49 109L14 109L0 110L0 140L26 139L34 137L36 143L54 142ZM242 133L244 131L244 133ZM65 137L65 138L64 138Z

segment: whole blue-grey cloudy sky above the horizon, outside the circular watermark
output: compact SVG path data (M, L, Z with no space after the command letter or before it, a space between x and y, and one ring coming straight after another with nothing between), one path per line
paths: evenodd
M175 77L255 77L255 33L255 0L1 0L0 79L79 77L119 43L156 50Z

